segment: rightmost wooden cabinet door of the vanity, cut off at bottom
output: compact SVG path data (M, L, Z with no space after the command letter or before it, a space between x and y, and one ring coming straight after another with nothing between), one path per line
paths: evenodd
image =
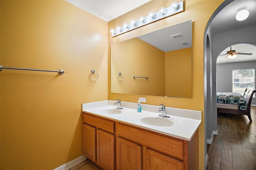
M166 146L168 147L168 146ZM151 149L146 149L146 169L147 170L183 170L182 161L170 156L161 154Z

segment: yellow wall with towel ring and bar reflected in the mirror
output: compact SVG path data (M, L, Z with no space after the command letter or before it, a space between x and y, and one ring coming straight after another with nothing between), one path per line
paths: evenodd
M112 92L165 96L164 51L133 38L113 44L111 54ZM119 72L124 76L123 81L117 79ZM133 79L134 75L149 79Z

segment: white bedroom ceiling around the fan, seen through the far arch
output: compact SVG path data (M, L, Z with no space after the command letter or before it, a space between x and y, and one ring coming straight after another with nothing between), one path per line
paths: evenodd
M234 63L234 62L243 62L243 61L256 61L256 47L254 45L240 43L231 46L232 50L236 52L243 51L243 53L252 53L252 55L237 55L234 59L226 58L227 55L222 55L218 57L217 64L222 63ZM230 51L230 47L224 49L220 54L225 54L227 51Z

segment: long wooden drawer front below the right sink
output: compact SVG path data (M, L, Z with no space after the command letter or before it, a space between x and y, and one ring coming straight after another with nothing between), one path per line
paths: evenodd
M183 141L168 138L158 134L150 133L141 128L130 127L121 123L117 123L116 132L118 136L127 138L134 142L144 144L150 148L159 150L165 154L183 159L184 143Z

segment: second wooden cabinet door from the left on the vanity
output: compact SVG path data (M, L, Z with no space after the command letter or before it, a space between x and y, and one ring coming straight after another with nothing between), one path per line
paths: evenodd
M114 170L114 134L97 129L97 162L105 170Z

